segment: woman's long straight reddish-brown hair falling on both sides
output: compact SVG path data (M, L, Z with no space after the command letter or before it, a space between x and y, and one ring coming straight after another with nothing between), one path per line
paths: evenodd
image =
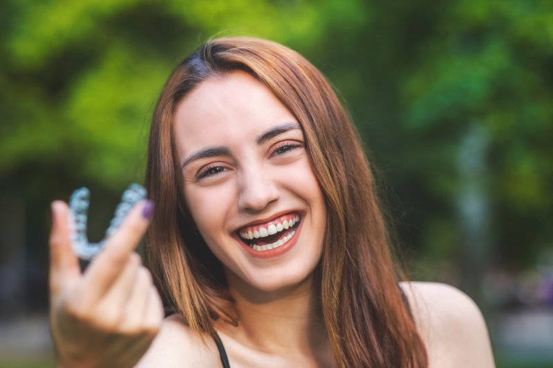
M182 197L172 122L177 104L214 75L245 70L298 119L328 209L316 271L320 304L340 367L426 367L427 352L402 300L375 182L362 145L319 70L262 39L207 41L169 77L153 116L146 185L156 203L146 259L167 304L192 331L238 323L221 263L194 230Z

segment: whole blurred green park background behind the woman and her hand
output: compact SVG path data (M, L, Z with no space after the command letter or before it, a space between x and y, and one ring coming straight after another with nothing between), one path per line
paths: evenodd
M476 300L498 367L551 367L550 0L3 0L0 367L53 364L50 201L88 186L99 240L142 182L165 79L222 35L284 43L324 72L379 169L411 278Z

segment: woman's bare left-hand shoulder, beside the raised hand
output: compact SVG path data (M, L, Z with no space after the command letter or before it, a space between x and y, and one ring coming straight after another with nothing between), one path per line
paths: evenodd
M216 367L221 365L212 338L202 340L179 316L165 318L151 347L135 367Z

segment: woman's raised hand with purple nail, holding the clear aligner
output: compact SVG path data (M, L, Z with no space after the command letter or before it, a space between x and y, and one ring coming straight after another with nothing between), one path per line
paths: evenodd
M68 207L53 202L50 326L60 367L132 367L158 333L162 302L134 252L152 209L146 201L134 206L82 273L69 241Z

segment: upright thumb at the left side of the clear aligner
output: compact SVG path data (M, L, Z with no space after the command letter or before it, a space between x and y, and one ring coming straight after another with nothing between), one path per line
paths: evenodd
M58 293L81 275L79 259L69 240L67 204L52 202L52 232L50 233L50 292Z

